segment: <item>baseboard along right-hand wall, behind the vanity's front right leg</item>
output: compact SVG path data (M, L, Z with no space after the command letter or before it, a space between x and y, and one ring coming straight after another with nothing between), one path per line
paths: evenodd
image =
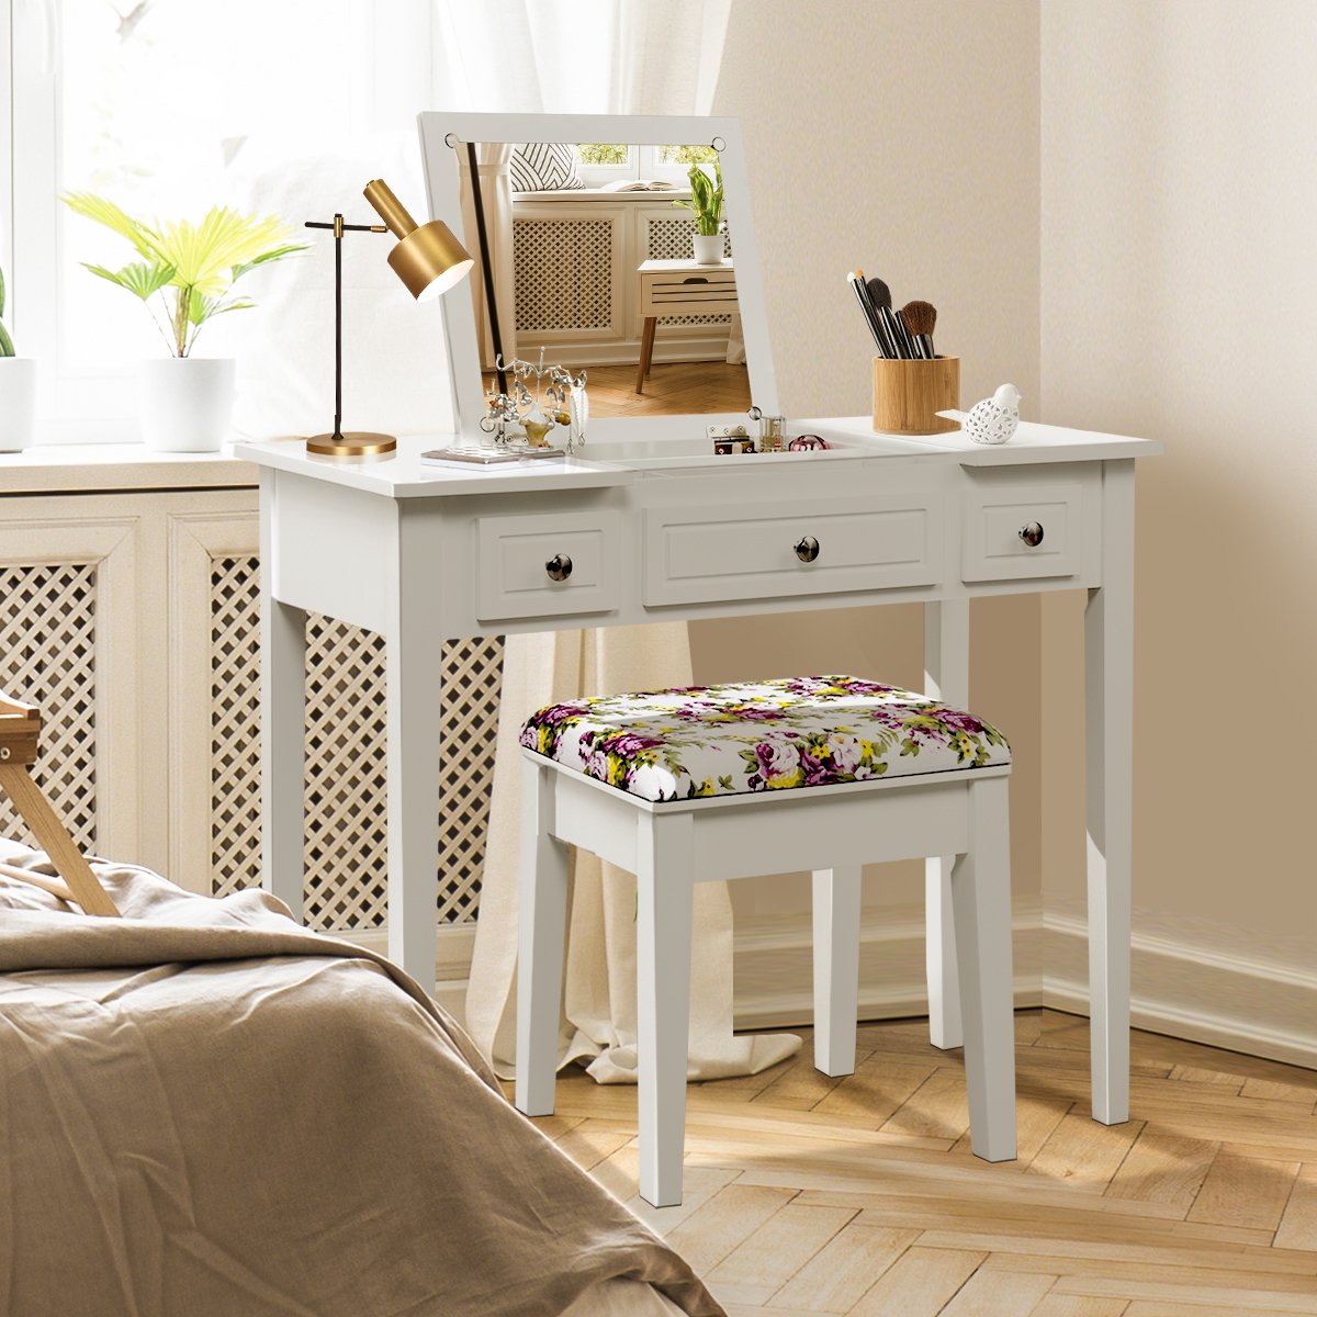
M1137 931L1130 1018L1138 1029L1317 1068L1317 972L1204 940ZM1043 922L1042 1004L1088 1014L1088 928L1071 913Z

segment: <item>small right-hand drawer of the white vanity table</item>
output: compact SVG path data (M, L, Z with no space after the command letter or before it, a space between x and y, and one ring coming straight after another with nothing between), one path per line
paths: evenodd
M1026 527L1042 539L1026 541ZM1084 548L1084 487L1071 482L993 483L965 495L960 578L1018 581L1076 576Z

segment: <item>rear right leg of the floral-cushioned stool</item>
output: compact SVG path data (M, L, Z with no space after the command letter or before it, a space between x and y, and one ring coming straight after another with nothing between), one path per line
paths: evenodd
M855 1073L860 1011L860 865L814 871L814 1068Z

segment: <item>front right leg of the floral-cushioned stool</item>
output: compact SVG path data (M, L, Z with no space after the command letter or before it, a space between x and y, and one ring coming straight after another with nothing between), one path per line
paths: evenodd
M969 852L956 860L956 915L969 1143L985 1162L1015 1156L1015 1017L1011 979L1010 823L1006 778L969 786Z

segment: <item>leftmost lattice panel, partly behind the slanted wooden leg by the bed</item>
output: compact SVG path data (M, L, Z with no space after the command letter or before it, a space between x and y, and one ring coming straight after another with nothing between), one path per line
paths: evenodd
M0 568L0 690L40 705L33 777L83 851L96 849L96 565ZM0 835L37 846L0 794Z

